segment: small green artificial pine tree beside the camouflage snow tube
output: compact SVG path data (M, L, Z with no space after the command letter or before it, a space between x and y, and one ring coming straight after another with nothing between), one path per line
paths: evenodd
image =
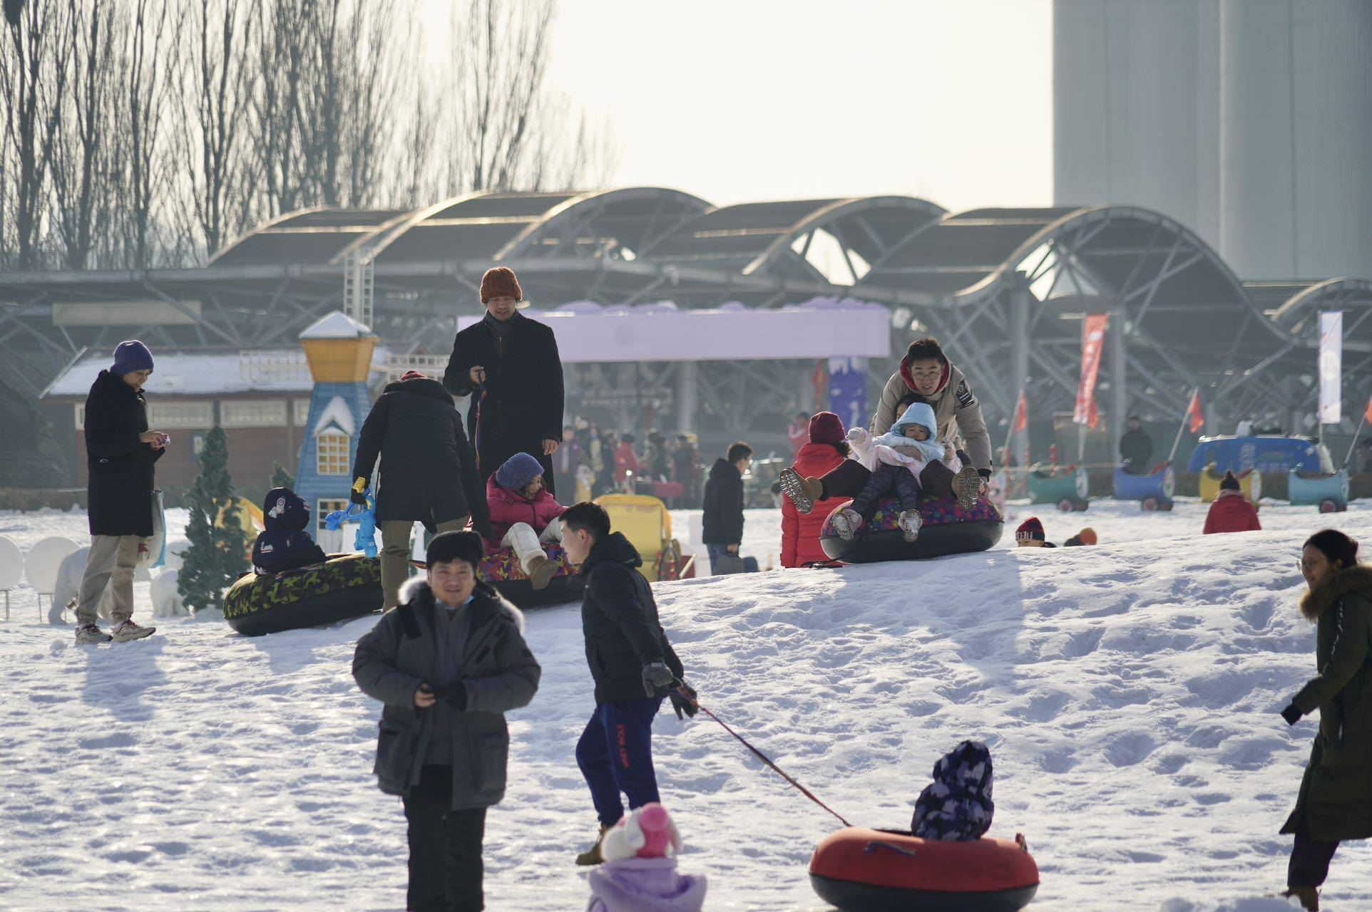
M191 523L185 527L191 547L185 550L177 591L187 608L199 612L224 608L224 591L247 569L247 540L233 506L233 479L229 477L229 450L224 429L215 425L204 435L200 475L187 491ZM215 517L222 520L215 524Z

